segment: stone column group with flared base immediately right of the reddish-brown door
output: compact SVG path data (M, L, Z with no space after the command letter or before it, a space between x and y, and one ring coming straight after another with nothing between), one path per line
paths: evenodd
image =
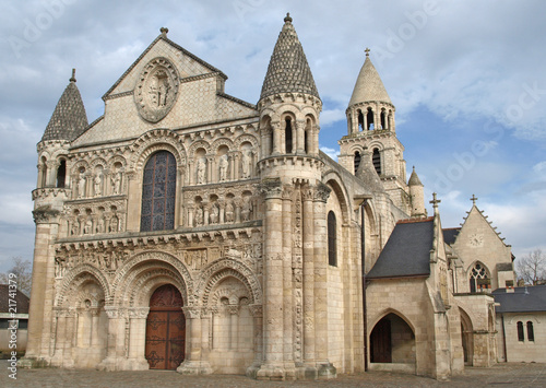
M182 307L186 317L186 327L189 327L189 339L186 333L186 355L183 362L176 369L182 375L209 375L212 373L207 361L201 358L201 307Z

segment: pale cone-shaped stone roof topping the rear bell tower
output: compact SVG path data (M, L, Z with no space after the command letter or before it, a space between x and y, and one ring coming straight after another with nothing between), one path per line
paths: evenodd
M353 90L348 106L368 101L379 101L392 105L391 98L384 89L383 81L381 81L379 73L371 63L370 57L366 55L366 60L356 79L355 89Z

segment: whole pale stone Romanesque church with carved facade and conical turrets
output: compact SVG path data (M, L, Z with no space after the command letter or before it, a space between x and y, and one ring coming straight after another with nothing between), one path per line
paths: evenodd
M23 366L283 380L496 361L510 246L475 205L456 230L436 196L427 215L369 52L339 162L319 151L292 22L256 105L166 28L91 124L72 74L37 145Z

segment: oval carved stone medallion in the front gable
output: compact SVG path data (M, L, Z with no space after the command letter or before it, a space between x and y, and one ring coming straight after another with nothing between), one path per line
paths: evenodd
M152 59L142 70L134 91L134 103L141 117L150 122L165 118L178 96L176 68L166 58Z

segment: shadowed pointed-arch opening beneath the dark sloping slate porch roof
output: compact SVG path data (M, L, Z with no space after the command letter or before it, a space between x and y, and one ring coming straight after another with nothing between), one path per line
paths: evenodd
M415 334L404 319L388 314L370 334L372 363L415 364Z

